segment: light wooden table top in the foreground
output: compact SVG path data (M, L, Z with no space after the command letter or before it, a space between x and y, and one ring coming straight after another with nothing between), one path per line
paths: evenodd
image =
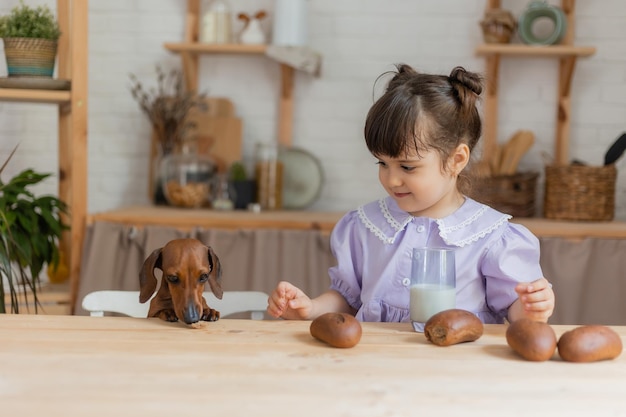
M364 323L337 349L310 322L0 315L7 416L626 415L626 355L527 362L487 325L430 344L408 323ZM573 326L553 326L557 336ZM626 339L626 327L613 327ZM573 413L573 414L572 414Z

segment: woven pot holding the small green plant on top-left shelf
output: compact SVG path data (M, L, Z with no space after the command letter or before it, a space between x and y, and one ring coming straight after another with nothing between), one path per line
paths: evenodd
M9 77L52 77L57 41L38 38L4 38Z

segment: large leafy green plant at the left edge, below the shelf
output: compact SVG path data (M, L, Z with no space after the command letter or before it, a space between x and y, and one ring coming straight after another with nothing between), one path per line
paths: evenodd
M37 312L39 274L46 264L56 267L59 262L58 243L69 229L62 220L62 215L69 214L67 205L54 196L36 197L28 190L49 176L26 169L7 183L0 179L0 275L5 278L0 279L0 313L6 313L5 293L10 294L11 312L19 313L18 296L21 293L28 301L29 292Z

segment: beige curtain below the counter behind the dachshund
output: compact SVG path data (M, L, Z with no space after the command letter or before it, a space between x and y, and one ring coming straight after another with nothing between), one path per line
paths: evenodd
M87 228L76 314L85 294L101 289L138 290L139 270L148 255L168 241L194 237L210 245L222 265L225 291L270 293L288 280L310 296L328 288L328 268L334 264L328 235L314 230L202 230L170 227L141 229L95 222Z

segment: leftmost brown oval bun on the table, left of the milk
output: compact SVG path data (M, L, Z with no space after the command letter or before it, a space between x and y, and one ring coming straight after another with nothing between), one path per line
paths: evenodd
M311 322L311 336L339 348L356 346L361 340L361 323L346 313L322 314Z

